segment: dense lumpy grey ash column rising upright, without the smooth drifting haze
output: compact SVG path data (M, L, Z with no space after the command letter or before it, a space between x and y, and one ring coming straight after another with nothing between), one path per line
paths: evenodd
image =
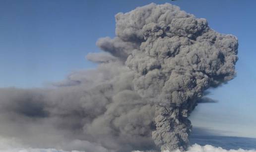
M235 76L237 38L169 3L118 13L116 22L117 37L102 38L98 46L125 62L135 73L134 90L156 105L155 144L186 149L196 101Z

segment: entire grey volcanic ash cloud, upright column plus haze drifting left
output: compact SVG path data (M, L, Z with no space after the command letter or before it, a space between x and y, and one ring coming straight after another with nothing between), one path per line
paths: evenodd
M116 37L97 42L106 52L87 56L97 69L53 89L0 90L0 135L65 151L187 149L197 101L235 76L237 38L169 3L115 17Z

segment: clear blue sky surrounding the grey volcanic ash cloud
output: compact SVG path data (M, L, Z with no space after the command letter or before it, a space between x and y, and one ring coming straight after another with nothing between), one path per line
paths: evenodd
M211 90L218 103L202 103L194 126L256 137L256 0L0 0L0 87L42 87L74 70L93 68L88 52L100 37L115 36L118 12L170 2L206 18L239 39L237 77Z

